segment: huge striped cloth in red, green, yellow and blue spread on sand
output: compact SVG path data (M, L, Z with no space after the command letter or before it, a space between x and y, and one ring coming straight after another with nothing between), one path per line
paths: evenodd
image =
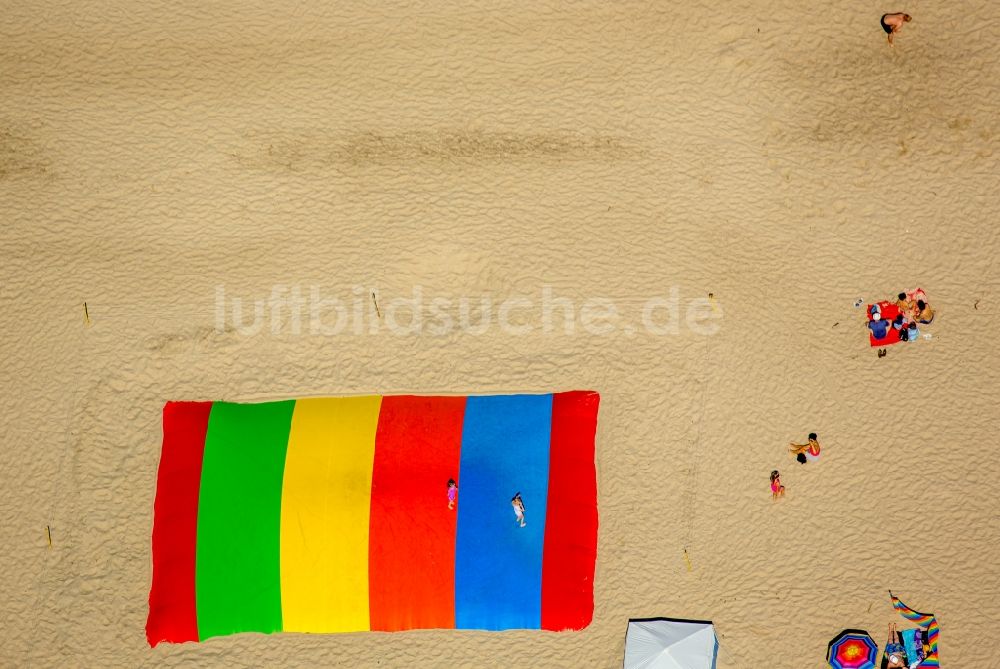
M168 403L150 645L250 631L586 627L599 399Z

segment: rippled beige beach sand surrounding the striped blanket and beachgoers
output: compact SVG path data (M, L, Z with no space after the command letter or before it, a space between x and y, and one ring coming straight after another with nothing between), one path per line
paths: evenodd
M946 666L997 666L996 3L204 4L3 9L0 665L615 667L669 615L801 669L884 642L893 588ZM275 284L724 317L215 331L217 286ZM915 285L933 339L877 359L854 300ZM586 631L146 645L164 401L572 388L603 395Z

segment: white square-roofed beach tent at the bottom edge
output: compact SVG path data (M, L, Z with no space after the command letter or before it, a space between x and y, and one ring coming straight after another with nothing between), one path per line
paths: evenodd
M625 669L715 669L715 628L702 620L628 621Z

